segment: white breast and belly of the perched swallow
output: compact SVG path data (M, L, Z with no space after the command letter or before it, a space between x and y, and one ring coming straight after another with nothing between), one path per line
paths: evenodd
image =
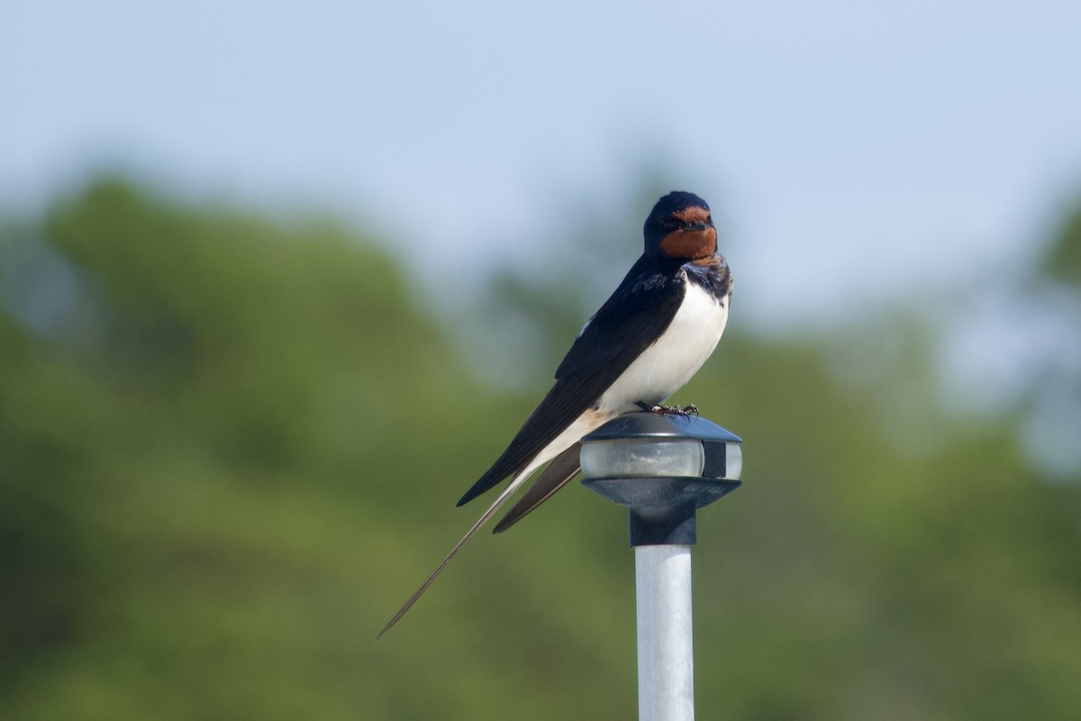
M664 401L682 388L713 352L728 319L728 298L718 303L699 285L686 282L686 296L672 322L604 391L598 410L618 414L635 410L637 401Z

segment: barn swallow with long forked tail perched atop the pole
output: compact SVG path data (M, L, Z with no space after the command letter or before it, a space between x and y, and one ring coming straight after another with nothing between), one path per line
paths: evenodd
M662 405L706 362L728 322L732 275L717 252L709 205L691 192L657 201L643 227L645 249L600 310L586 321L556 370L556 384L488 471L458 500L510 483L421 588L379 631L405 614L454 555L540 466L551 462L496 524L502 533L579 470L583 436L630 411Z

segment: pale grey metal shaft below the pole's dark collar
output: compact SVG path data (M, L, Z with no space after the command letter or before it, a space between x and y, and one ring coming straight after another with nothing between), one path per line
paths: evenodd
M691 547L636 546L639 721L694 719Z

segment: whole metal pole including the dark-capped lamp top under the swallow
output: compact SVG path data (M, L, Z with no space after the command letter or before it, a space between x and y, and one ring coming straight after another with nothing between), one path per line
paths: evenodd
M628 413L582 439L582 483L626 506L638 602L639 721L693 721L696 510L740 485L739 437L697 416Z

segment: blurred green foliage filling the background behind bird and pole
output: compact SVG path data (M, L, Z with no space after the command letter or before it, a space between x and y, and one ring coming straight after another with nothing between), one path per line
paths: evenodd
M576 484L374 642L536 400L479 385L404 268L115 178L0 226L0 718L633 717L624 516ZM573 337L575 285L502 307ZM1073 718L1079 486L1014 415L937 406L909 313L734 313L673 399L747 463L699 518L699 715Z

